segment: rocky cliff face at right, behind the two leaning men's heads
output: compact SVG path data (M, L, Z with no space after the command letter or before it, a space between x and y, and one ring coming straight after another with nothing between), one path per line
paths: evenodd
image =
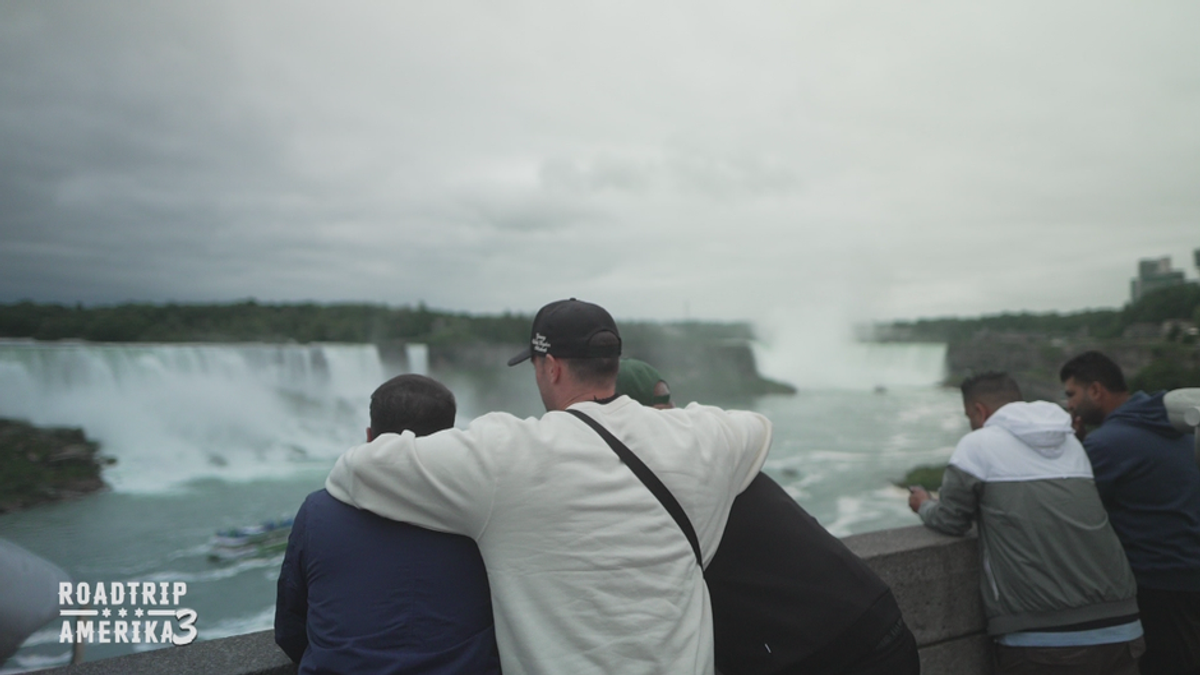
M983 333L952 340L946 351L946 383L958 386L972 374L1002 370L1016 380L1026 399L1060 401L1058 370L1068 359L1088 350L1104 352L1117 362L1130 388L1200 386L1188 381L1188 374L1200 371L1200 345L1162 339L1049 338L1032 333ZM1164 369L1182 374L1184 380L1159 384L1158 377L1139 378Z

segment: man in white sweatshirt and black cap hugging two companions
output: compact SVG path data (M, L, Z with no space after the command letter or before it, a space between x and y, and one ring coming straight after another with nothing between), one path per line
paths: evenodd
M617 396L620 334L574 298L534 317L541 418L485 414L467 429L382 434L337 460L325 488L384 518L466 534L491 584L505 675L712 675L703 565L734 497L770 448L770 422L691 404L658 411ZM695 528L679 521L589 425L624 442Z

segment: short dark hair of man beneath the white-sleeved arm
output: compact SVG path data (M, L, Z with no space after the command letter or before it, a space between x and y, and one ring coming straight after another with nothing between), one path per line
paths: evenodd
M454 394L424 375L397 375L371 394L371 431L427 436L454 426Z

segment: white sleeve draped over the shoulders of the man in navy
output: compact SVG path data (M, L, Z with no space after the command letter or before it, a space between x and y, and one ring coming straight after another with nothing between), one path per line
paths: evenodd
M342 454L325 489L391 520L478 539L491 516L511 432L497 416L503 413L430 436L380 434ZM521 423L511 418L511 424Z

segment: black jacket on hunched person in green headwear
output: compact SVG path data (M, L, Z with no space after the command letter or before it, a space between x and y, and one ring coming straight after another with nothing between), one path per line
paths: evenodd
M763 473L733 501L704 579L726 675L848 662L900 619L887 584Z

